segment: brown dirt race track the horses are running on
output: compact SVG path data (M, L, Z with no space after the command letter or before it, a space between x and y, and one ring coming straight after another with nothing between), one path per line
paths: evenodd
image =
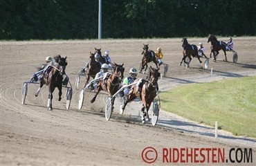
M226 38L219 40L226 41ZM216 77L239 77L243 73L253 73L256 69L256 38L233 37L234 49L239 59L232 63L232 53L227 53L228 61L223 62L220 52L217 62L210 59L209 68L213 68ZM203 42L210 55L207 38L188 38L190 44ZM106 95L98 96L95 104L89 104L92 93L86 95L88 104L77 109L78 92L75 90L75 75L89 59L89 52L96 48L110 51L113 62L124 63L125 76L129 68L138 68L143 44L155 50L161 46L164 63L169 64L167 77L160 83L161 91L184 84L187 78L196 80L209 77L210 70L205 71L198 59L193 58L190 68L179 66L182 57L181 38L179 39L130 39L130 40L88 40L58 42L1 42L1 163L0 165L147 165L141 157L143 149L154 147L158 151L155 165L163 163L163 148L206 148L225 149L228 158L229 149L253 148L253 163L235 163L233 165L255 165L255 139L232 137L232 140L214 138L207 133L199 134L188 126L182 131L174 127L153 127L150 123L141 124L138 109L135 113L118 115L111 120L104 118L104 101ZM53 111L46 108L48 90L45 87L37 98L33 95L38 84L28 86L26 104L21 104L21 86L32 77L36 68L44 63L45 57L51 55L67 56L66 73L73 86L71 108L66 110L64 89L62 101L57 101L57 89L53 99ZM204 61L204 59L203 59ZM154 66L154 64L151 64ZM155 67L155 66L154 66ZM163 70L163 68L161 68ZM214 80L214 75L211 79ZM139 74L138 77L145 77ZM189 82L189 81L188 81ZM255 89L254 89L255 91ZM86 99L85 99L86 100ZM133 104L132 104L133 105ZM136 107L136 105L134 106ZM125 111L132 109L127 106ZM115 109L118 109L116 107ZM163 112L163 111L162 111ZM164 112L163 112L164 113ZM136 116L137 115L137 116ZM165 113L165 122L172 123L171 116ZM161 122L161 116L159 122ZM163 122L163 121L162 121ZM179 128L179 127L178 127ZM207 132L207 131L205 131ZM249 141L244 141L244 140ZM154 154L151 154L153 157ZM209 154L210 158L212 154ZM180 164L180 163L179 163ZM182 163L181 165L230 165L229 163ZM177 165L177 164L174 164Z

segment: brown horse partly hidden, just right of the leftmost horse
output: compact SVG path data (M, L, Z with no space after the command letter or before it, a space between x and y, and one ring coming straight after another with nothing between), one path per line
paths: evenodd
M89 60L89 67L88 70L86 70L86 82L84 84L84 87L88 84L90 77L95 78L96 74L100 71L101 64L100 62L95 61L94 53L90 52L90 60Z

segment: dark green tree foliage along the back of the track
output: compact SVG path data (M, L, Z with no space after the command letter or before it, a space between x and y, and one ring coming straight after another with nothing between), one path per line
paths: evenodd
M95 39L98 1L1 0L1 39ZM255 35L255 0L102 0L102 38Z

